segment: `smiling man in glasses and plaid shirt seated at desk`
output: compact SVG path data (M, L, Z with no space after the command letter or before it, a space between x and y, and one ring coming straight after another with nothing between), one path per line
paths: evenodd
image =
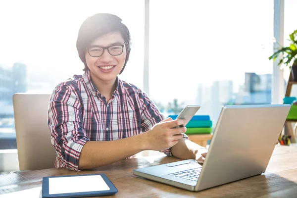
M99 13L87 18L77 50L84 75L55 87L48 125L55 167L96 168L159 150L203 162L207 149L188 140L184 120L165 119L142 90L118 78L128 62L131 38L122 20Z

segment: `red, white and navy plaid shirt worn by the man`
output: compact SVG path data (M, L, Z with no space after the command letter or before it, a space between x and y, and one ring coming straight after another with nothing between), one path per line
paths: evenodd
M48 114L51 144L57 153L55 167L78 171L86 142L135 136L165 119L139 88L118 78L116 83L108 103L91 81L89 70L55 87ZM171 155L171 148L161 152Z

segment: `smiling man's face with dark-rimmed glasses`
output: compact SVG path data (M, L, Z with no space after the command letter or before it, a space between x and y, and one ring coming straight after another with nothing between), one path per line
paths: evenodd
M108 82L116 79L126 59L124 43L119 32L102 35L91 43L85 56L92 80Z

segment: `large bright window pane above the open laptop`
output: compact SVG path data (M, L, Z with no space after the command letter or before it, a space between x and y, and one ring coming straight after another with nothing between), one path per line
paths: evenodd
M273 13L271 0L151 0L151 98L214 122L224 104L271 103Z

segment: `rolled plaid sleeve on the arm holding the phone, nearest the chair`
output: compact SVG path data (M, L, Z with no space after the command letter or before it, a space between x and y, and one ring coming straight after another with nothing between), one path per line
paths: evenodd
M67 169L78 170L83 146L90 141L82 127L82 109L73 87L60 84L49 99L48 126L51 144Z

